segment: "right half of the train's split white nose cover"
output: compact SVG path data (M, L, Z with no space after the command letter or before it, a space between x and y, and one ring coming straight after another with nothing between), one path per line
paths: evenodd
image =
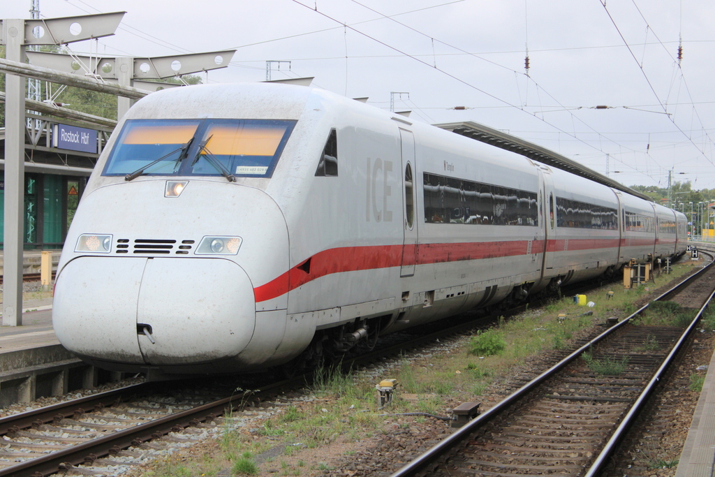
M145 325L150 330L142 330ZM147 364L182 365L230 358L248 344L254 325L253 287L234 262L147 261L135 332Z

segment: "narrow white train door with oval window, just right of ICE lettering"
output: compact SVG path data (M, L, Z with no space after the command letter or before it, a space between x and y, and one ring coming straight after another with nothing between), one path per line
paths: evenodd
M415 275L417 262L417 212L415 204L415 137L412 132L400 129L402 144L403 185L403 255L400 277Z

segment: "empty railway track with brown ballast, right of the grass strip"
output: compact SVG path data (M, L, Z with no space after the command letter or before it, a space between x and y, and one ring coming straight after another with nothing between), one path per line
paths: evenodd
M671 300L694 282L714 280L711 264L655 301ZM710 285L704 301L712 296ZM683 330L644 325L644 318L634 324L649 308L645 305L392 477L597 476L686 343L706 304L699 307ZM576 359L584 354L586 360ZM599 370L593 363L613 369ZM623 370L616 373L618 366Z

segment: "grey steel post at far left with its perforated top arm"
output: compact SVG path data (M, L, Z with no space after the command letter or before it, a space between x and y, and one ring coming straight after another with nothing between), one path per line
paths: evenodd
M0 43L6 59L24 63L26 46L60 45L114 34L124 12L58 19L2 20ZM22 252L25 183L25 83L19 75L5 79L5 191L3 325L22 325Z

